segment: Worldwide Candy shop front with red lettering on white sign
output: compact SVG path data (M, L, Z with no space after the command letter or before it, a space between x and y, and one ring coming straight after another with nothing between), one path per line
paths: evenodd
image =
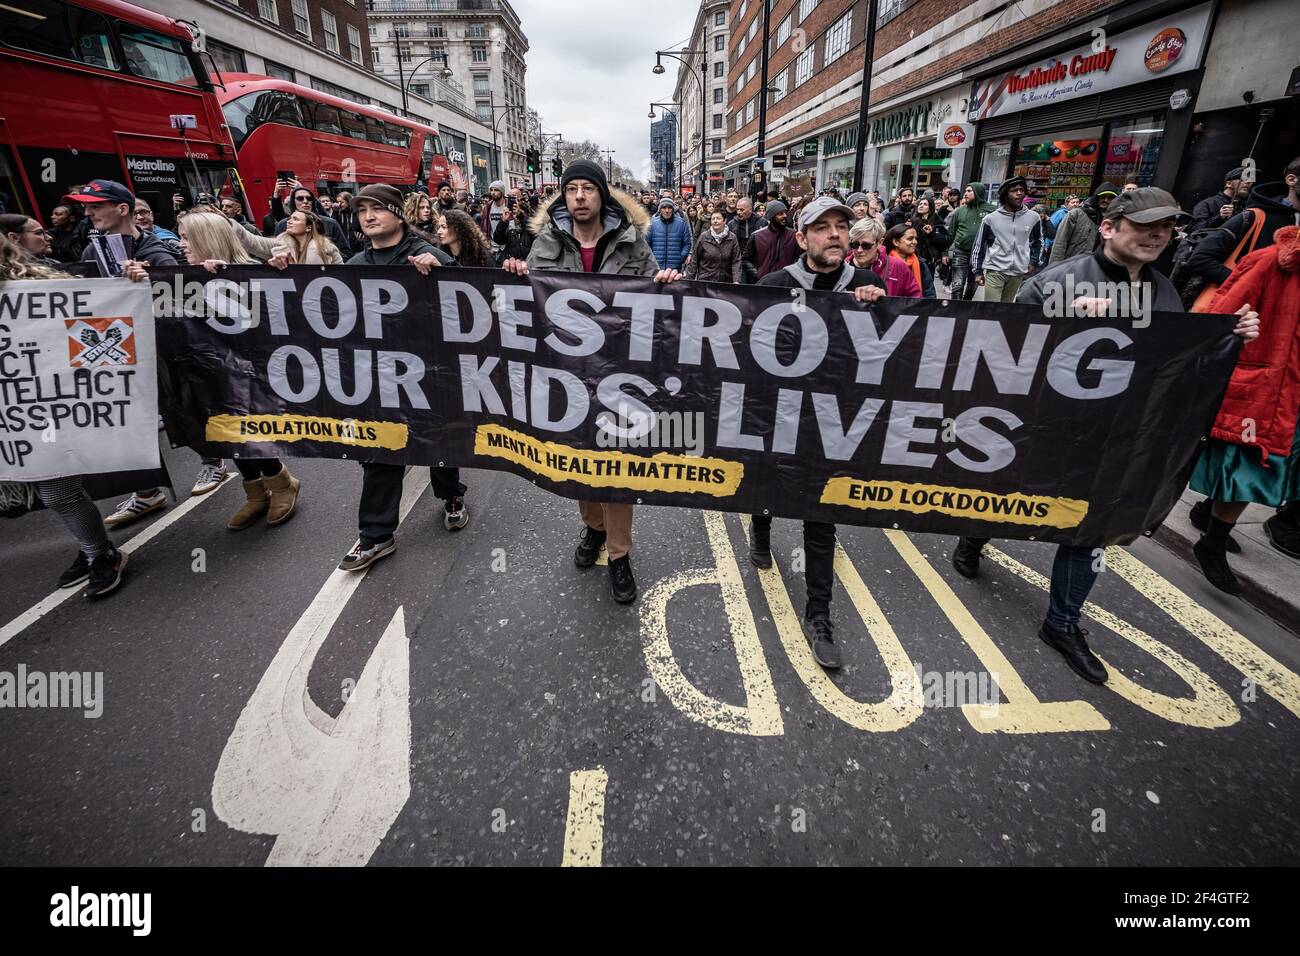
M979 79L968 179L1023 176L1056 208L1102 182L1171 189L1200 82L1210 4Z

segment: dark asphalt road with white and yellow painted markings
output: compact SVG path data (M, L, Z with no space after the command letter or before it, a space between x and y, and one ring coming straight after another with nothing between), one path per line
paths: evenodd
M103 713L0 709L0 862L1300 862L1300 639L1149 541L1093 593L1095 687L1036 637L1050 548L966 581L841 528L827 679L794 522L760 575L736 515L638 509L623 607L576 506L493 472L455 535L410 472L396 554L333 574L360 470L292 467L289 524L228 532L230 481L39 617L73 545L4 524L0 674L101 672Z

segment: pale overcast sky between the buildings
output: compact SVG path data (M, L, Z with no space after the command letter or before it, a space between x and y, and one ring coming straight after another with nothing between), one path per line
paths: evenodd
M681 49L699 0L511 0L528 38L528 105L542 127L615 150L646 179L651 101L672 99L676 60L650 72L655 49ZM655 111L659 113L660 111Z

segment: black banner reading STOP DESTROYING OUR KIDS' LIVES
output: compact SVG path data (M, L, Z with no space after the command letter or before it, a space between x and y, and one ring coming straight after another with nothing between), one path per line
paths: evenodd
M1080 545L1164 519L1238 350L1226 316L555 272L162 271L155 308L164 418L207 454Z

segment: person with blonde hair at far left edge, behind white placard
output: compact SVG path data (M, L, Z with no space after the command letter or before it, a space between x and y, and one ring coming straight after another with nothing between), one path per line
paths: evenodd
M16 243L0 235L0 289L5 282L34 278L72 278L66 273L34 261ZM43 481L0 481L0 512L6 518L21 515L40 503L58 515L64 527L77 538L77 557L58 575L60 588L73 588L88 581L86 597L105 597L122 583L126 554L113 546L104 527L104 518L86 494L79 475Z

